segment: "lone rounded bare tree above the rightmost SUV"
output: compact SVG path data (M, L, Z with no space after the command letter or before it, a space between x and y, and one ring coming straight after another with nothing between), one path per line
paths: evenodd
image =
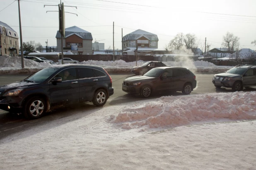
M239 39L238 36L234 36L233 33L227 31L226 35L223 36L222 46L227 48L229 53L233 53L236 49L239 48Z

